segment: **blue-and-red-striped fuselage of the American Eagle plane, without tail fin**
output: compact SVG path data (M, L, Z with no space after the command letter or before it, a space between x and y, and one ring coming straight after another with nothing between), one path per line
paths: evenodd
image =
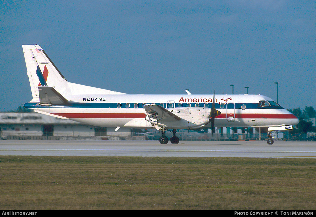
M89 94L65 96L69 103L63 105L43 106L38 103L26 103L25 107L49 115L69 118L77 122L107 127L151 128L153 125L146 118L144 105L161 105L168 111L178 114L179 109L199 107L210 108L213 95L150 95L150 94ZM267 105L260 106L265 101ZM268 104L272 99L262 95L215 95L215 109L221 112L215 117L215 127L271 127L295 125L298 119L281 106ZM194 109L196 108L196 109ZM203 118L187 114L191 122ZM191 117L190 117L191 115ZM208 117L204 117L208 118ZM192 119L192 120L191 120ZM196 126L208 128L210 124ZM173 129L191 129L179 126Z

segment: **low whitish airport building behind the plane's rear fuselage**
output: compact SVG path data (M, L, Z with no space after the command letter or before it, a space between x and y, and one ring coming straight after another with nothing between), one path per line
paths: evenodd
M41 139L42 136L72 137L130 137L131 129L97 127L69 119L55 118L36 112L0 112L0 133L3 139ZM32 137L33 136L33 137ZM37 137L34 137L37 136ZM54 138L52 138L54 139Z

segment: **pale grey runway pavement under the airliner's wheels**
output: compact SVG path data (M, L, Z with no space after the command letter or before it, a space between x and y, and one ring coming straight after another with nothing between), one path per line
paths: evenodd
M316 158L313 141L47 141L2 140L0 155Z

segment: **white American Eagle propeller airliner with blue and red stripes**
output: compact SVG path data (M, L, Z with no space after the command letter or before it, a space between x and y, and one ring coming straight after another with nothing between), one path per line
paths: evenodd
M58 118L103 126L173 130L171 143L179 143L179 129L215 127L269 127L289 130L299 119L262 95L211 95L189 91L183 95L126 94L70 83L39 45L22 45L33 99L26 108Z

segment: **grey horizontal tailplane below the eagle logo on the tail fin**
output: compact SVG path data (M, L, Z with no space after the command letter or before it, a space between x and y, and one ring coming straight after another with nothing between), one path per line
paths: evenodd
M53 87L39 86L40 104L41 105L60 105L68 102Z

